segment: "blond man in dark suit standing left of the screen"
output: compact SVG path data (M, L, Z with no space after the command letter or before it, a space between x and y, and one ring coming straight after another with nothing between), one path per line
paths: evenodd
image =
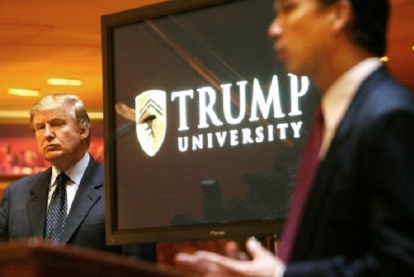
M0 206L0 241L39 237L56 245L118 251L105 246L103 165L88 153L90 120L83 102L74 95L46 95L33 104L30 124L52 166L7 186ZM62 172L68 179L60 228L51 226L47 214Z

